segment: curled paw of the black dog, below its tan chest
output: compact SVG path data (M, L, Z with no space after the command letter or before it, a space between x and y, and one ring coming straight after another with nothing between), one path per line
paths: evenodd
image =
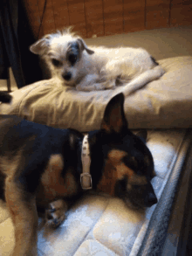
M62 199L49 204L49 208L45 211L46 225L58 227L65 220L65 211L67 211L67 204Z

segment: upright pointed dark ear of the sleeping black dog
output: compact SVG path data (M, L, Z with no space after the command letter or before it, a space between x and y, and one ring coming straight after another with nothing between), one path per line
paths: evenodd
M123 108L124 100L123 93L119 93L108 102L101 122L101 130L106 133L127 133L127 120Z

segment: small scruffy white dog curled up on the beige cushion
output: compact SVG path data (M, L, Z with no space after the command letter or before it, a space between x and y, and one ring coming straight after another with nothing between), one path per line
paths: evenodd
M164 73L142 48L87 47L70 29L46 35L30 47L45 59L51 77L79 91L113 89L127 84L127 93L157 80Z

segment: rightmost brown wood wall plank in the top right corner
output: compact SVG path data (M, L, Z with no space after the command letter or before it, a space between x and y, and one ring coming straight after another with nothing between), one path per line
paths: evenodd
M170 17L171 26L192 24L192 1L172 0Z

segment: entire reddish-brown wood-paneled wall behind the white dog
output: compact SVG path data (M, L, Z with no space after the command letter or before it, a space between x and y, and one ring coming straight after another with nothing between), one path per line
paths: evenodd
M192 24L191 0L24 0L24 6L37 39L69 25L92 38Z

